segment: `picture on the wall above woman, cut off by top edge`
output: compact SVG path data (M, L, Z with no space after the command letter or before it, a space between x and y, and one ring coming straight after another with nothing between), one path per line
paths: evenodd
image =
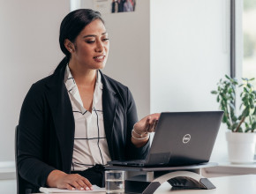
M94 9L102 13L135 11L137 0L94 0Z

